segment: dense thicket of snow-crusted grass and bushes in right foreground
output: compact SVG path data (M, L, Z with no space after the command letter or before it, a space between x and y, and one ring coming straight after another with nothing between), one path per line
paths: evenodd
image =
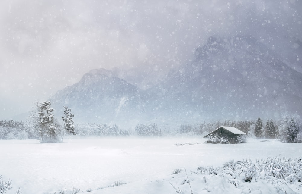
M267 158L256 160L242 160L226 162L222 167L198 167L202 174L224 174L231 175L230 183L235 186L240 182L252 182L259 179L266 180L273 185L280 183L302 182L302 157L296 159L287 158ZM234 181L236 183L234 183ZM237 187L237 186L236 186Z

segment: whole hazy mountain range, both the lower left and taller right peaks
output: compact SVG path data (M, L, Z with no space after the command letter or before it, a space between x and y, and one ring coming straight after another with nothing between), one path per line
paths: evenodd
M137 73L92 70L51 102L69 106L81 120L131 126L274 119L302 110L302 74L295 66L297 60L291 63L255 38L210 37L190 64L150 80L147 88L136 84L142 79Z

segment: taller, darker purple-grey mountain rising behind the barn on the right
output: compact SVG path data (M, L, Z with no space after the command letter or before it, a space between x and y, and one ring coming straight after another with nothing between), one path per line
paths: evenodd
M301 73L254 38L210 37L191 64L148 94L156 94L154 106L179 119L274 118L301 110L301 81Z

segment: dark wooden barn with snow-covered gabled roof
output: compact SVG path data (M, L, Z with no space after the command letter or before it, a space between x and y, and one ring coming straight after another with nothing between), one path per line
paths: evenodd
M240 131L239 129L236 129L235 127L221 126L204 137L208 137L210 134L217 134L219 137L224 136L229 140L230 143L236 143L238 136L244 135L246 133Z

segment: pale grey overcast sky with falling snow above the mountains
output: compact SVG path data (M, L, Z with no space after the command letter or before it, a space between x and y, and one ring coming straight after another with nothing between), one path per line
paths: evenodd
M301 10L299 0L2 0L0 120L91 69L167 72L192 60L213 35L245 34L286 50L280 40L302 40Z

